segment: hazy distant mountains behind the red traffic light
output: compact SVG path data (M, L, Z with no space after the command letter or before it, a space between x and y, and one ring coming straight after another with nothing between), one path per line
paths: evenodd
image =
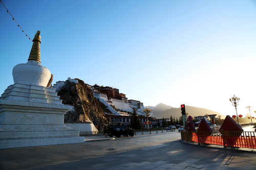
M173 117L180 117L181 116L181 110L180 108L174 108L172 106L165 105L163 103L159 103L158 105L154 106L145 106L144 108L150 108L152 109L152 113L157 117L157 118L169 118L171 115ZM201 116L205 114L217 114L221 115L221 118L225 118L225 116L219 112L204 109L204 108L198 108L198 107L193 107L193 106L186 106L186 113L188 115L194 117L194 116Z

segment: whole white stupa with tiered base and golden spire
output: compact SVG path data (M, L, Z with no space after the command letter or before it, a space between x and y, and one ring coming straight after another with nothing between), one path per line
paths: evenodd
M14 66L14 84L0 97L0 149L84 142L78 130L63 124L69 107L49 88L53 75L40 64L39 34L28 62Z

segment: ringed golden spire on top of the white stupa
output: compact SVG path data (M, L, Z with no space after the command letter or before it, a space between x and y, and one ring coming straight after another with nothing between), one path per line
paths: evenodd
M35 61L41 62L40 43L41 43L40 31L37 31L33 39L33 45L32 45L28 60L35 60Z

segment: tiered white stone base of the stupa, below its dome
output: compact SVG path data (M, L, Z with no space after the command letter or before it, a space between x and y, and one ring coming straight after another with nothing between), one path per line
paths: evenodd
M84 142L78 130L63 124L69 108L55 89L9 86L0 98L0 149Z

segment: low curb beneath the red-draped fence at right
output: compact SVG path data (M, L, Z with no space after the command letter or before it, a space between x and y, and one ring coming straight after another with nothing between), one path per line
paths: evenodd
M186 143L186 144L191 144L191 145L195 145L198 147L208 147L208 148L217 148L217 149L222 149L222 150L234 150L234 151L242 151L242 152L251 152L251 153L256 153L256 149L251 149L251 148L236 148L236 147L226 147L224 148L223 145L216 145L216 144L198 144L196 142L186 142L184 140L180 141L182 143Z

